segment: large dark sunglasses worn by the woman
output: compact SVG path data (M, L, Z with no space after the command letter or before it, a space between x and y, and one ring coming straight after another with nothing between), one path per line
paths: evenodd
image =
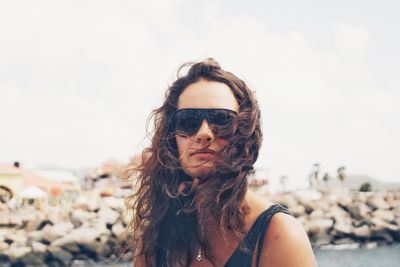
M184 108L176 110L170 120L170 126L177 135L192 136L203 120L207 120L211 129L227 127L237 116L237 112L219 108Z

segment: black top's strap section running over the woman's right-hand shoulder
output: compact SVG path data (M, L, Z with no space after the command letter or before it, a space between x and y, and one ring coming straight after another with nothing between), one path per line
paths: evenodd
M264 210L256 219L256 221L251 226L249 232L244 237L243 241L241 241L233 252L232 256L228 259L225 267L246 267L251 266L254 250L258 240L257 247L257 266L260 261L262 244L264 242L264 236L267 232L268 225L274 216L278 212L283 212L286 214L290 214L290 212L283 206L274 204L270 206L268 209ZM241 248L245 248L247 250L243 250Z

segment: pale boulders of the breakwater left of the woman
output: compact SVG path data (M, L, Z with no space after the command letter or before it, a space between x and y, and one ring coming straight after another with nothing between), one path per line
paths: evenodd
M100 198L87 192L73 203L45 211L0 213L0 266L82 266L89 261L116 261L127 240L129 216L123 197Z

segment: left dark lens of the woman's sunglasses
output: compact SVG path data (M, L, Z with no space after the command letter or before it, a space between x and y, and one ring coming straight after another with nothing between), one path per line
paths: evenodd
M175 131L180 135L192 135L200 127L201 114L194 110L180 110L175 113Z

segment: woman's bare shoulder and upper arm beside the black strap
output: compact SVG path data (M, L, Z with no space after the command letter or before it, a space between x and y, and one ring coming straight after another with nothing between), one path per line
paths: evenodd
M308 236L291 215L275 214L265 234L260 266L317 266Z

